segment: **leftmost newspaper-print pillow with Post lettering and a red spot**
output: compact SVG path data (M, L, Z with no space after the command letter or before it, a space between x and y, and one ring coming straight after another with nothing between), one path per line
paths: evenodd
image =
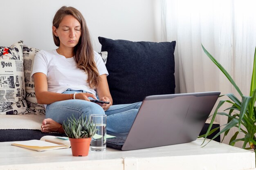
M22 48L23 41L0 46L0 115L27 113Z

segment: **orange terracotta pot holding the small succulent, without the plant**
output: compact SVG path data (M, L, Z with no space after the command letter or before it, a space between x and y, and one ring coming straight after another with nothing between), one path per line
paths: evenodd
M72 155L75 157L87 156L89 153L91 140L92 138L81 138L81 139L70 138Z

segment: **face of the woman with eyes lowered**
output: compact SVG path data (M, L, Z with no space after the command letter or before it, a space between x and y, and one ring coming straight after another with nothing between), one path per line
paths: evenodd
M61 48L74 48L81 37L81 24L72 15L66 15L56 29L52 26L54 35L60 39Z

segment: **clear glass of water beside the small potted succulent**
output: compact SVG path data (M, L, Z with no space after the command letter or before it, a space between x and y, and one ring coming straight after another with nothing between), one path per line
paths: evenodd
M107 115L91 115L93 124L96 124L96 134L92 137L91 150L106 150Z

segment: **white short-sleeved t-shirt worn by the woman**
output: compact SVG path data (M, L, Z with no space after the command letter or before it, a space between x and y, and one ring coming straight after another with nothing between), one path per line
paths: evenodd
M99 75L108 75L107 68L101 56L94 51L94 60L96 62ZM68 88L74 90L85 90L96 95L94 89L87 83L88 75L85 71L76 66L74 57L66 58L59 55L57 51L41 50L36 53L31 77L34 73L44 73L47 76L48 91L63 93Z

